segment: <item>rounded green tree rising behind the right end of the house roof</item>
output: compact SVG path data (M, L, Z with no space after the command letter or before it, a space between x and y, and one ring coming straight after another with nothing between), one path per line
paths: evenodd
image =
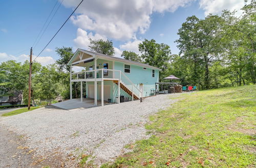
M167 44L158 44L154 39L145 39L139 44L141 58L145 64L162 69L160 78L163 77L170 61L170 47Z

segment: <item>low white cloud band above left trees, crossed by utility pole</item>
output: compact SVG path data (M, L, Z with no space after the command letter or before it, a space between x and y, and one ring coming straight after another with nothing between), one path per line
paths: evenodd
M35 59L35 55L32 56L32 60ZM0 63L8 61L8 60L15 60L17 62L24 62L26 60L29 60L29 55L26 54L21 54L17 57L15 57L14 55L9 55L5 52L1 53L0 52ZM37 57L36 61L41 63L43 66L45 65L49 65L49 64L54 64L55 60L48 56L48 57Z

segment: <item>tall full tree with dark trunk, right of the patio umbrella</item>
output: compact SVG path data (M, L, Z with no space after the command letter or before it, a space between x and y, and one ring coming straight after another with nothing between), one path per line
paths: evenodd
M180 54L193 60L196 67L204 66L204 87L210 88L209 66L212 61L219 57L222 51L219 33L221 31L222 18L217 15L209 14L205 19L200 20L196 16L191 16L182 23L176 40Z

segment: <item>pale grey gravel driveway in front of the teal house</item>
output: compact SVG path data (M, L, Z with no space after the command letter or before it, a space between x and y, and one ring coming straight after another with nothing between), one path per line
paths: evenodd
M0 125L25 134L34 156L47 156L56 150L64 156L75 151L91 154L96 164L122 154L126 144L147 138L144 124L148 115L164 109L180 94L158 95L139 101L88 109L40 108L0 118Z

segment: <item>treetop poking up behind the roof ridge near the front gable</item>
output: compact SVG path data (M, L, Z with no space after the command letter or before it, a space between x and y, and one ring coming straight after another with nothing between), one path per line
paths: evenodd
M114 56L115 50L113 46L113 42L111 40L90 40L90 45L88 46L91 51L103 53L106 55Z

